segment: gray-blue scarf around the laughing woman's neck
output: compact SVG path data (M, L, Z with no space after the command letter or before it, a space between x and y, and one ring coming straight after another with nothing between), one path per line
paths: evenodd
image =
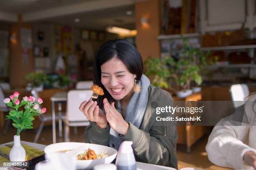
M141 87L141 91L133 94L125 112L125 121L131 122L137 128L141 126L148 103L148 86L150 85L148 77L146 77L146 75L142 75L141 81L138 82L138 85ZM121 114L120 101L117 102L117 110ZM109 146L118 150L122 142L123 140L120 139L118 133L110 128Z

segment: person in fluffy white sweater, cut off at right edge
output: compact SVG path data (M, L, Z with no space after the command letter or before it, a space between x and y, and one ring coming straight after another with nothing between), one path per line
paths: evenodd
M256 95L248 98L243 116L248 124L237 126L237 122L223 118L209 136L206 151L215 165L256 170Z

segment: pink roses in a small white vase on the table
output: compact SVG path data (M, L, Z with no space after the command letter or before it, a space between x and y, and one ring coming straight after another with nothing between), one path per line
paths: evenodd
M25 161L26 151L20 144L20 133L25 129L33 129L32 121L34 116L46 112L46 108L39 108L39 105L43 103L41 98L36 100L33 96L25 96L20 102L18 97L19 93L14 92L13 95L10 95L10 98L3 100L6 105L13 108L9 115L6 116L6 119L13 120L13 126L17 128L17 134L13 137L13 148L10 150L10 161ZM18 110L22 106L25 108L24 112L23 110Z

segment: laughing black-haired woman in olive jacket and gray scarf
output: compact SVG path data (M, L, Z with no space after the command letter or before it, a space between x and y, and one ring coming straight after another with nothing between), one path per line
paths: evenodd
M94 62L94 83L105 94L79 107L90 120L85 142L118 150L120 143L130 140L136 161L177 168L176 124L156 121L157 116L168 114L157 115L156 107L172 105L173 100L168 92L150 85L142 72L141 55L130 42L109 40L101 45Z

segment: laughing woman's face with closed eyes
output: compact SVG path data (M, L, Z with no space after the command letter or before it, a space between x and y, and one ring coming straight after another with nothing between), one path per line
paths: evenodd
M116 57L108 60L101 68L101 83L115 100L121 100L133 93L135 74Z

